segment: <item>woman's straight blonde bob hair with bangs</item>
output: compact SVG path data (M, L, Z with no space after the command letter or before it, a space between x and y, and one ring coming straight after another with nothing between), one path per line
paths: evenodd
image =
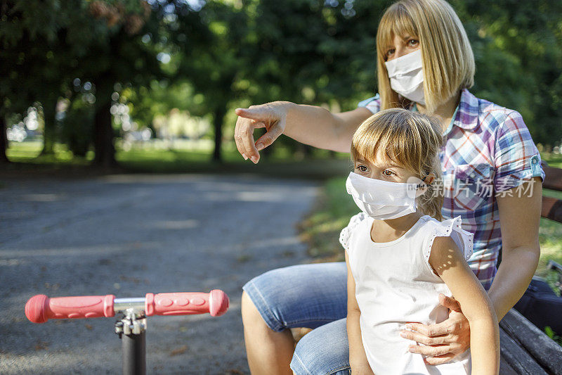
M410 103L400 102L391 89L384 65L395 35L419 39L427 113L433 113L440 103L474 84L474 55L469 37L452 6L443 0L400 0L386 9L377 31L381 109Z

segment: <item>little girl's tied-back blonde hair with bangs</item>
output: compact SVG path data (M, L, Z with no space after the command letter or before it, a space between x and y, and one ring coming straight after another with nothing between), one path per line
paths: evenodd
M436 179L416 198L424 215L443 220L443 194L439 151L443 144L440 123L432 117L402 108L381 110L367 118L353 134L351 158L372 164L392 163L424 179L433 173Z

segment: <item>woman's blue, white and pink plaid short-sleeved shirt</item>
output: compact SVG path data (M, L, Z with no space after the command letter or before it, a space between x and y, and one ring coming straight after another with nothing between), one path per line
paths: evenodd
M377 113L378 94L358 106ZM443 179L433 182L444 195L441 213L445 219L460 215L462 229L474 234L474 251L468 262L488 290L502 248L496 198L521 196L521 184L532 177L544 180L540 153L518 112L476 98L467 89L462 91L443 136Z

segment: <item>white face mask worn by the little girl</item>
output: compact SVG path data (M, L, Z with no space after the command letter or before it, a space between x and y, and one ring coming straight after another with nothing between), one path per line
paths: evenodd
M396 219L416 212L417 184L382 181L350 172L346 189L358 208L374 219Z

